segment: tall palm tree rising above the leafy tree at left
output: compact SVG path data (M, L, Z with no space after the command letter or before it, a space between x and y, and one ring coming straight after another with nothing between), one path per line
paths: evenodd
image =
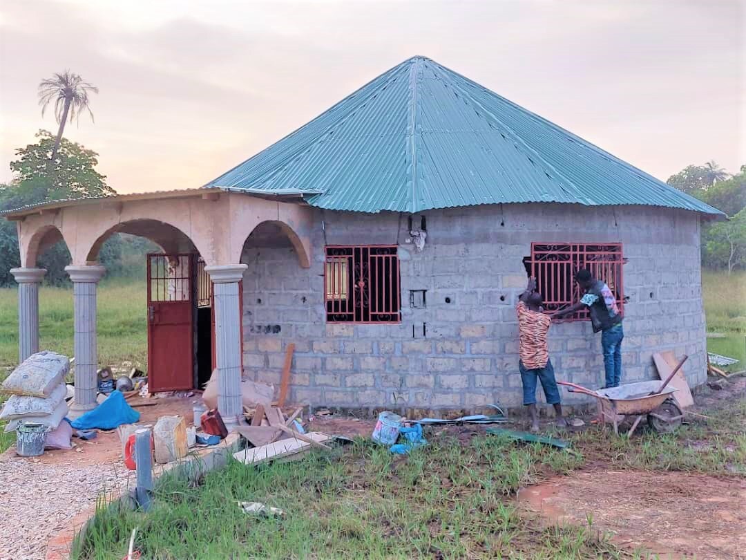
M57 118L60 128L57 138L54 140L54 148L51 151L50 161L54 161L57 151L60 149L62 133L68 118L72 121L80 117L81 111L88 111L93 121L93 112L88 106L89 93L98 93L98 87L84 81L80 75L65 70L61 74L55 73L51 78L42 80L39 84L39 105L44 111L54 100L54 116Z

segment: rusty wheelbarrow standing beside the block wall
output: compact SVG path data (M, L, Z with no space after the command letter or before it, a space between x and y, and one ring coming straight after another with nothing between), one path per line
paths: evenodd
M672 432L681 426L683 412L671 394L677 391L668 387L668 382L674 378L683 366L688 356L684 356L677 367L665 381L642 381L627 383L615 388L592 391L581 385L558 381L558 385L565 385L571 393L584 393L598 399L601 419L614 425L614 433L618 435L619 424L627 417L636 416L627 437L633 435L643 417L648 417L648 425L658 433ZM621 419L620 419L621 417Z

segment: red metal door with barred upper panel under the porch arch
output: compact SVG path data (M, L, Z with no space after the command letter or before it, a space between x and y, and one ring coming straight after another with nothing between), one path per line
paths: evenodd
M148 255L148 389L194 388L194 256Z

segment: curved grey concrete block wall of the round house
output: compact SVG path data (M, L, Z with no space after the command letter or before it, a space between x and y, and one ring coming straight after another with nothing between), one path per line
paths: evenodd
M515 302L527 281L522 259L532 241L584 241L624 243L624 381L656 379L651 356L660 349L689 354L684 370L690 385L706 379L696 214L530 204L422 215L427 240L418 252L405 215L318 211L310 269L300 267L279 231L252 234L242 256L248 264L245 376L277 384L292 342L294 402L342 408L520 406ZM413 223L420 225L419 215ZM326 323L324 246L333 244L398 244L400 324ZM410 308L410 290L427 290L426 308ZM603 385L600 339L589 322L552 326L558 379ZM563 399L585 402L564 391Z

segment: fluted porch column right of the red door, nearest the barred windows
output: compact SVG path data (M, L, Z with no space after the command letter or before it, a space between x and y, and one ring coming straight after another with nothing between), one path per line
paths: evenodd
M236 424L243 414L241 399L241 310L238 283L245 264L204 267L213 281L215 343L218 367L218 411L226 425Z

